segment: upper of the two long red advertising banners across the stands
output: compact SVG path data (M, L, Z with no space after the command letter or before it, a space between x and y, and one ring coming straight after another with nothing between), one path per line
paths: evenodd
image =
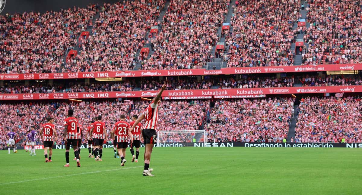
M108 78L108 77L155 77L155 76L187 76L187 75L217 75L217 74L256 74L256 73L293 73L337 70L362 70L362 64L327 64L308 66L265 66L222 68L221 70L177 69L177 70L136 70L108 72L79 73L40 73L40 74L0 74L1 80L31 80L31 79L70 79L70 78Z

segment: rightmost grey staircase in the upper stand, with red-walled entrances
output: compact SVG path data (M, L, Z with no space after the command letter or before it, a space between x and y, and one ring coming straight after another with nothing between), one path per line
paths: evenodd
M300 1L300 8L302 7L302 5L304 5L304 9L300 9L299 13L302 17L300 17L299 19L306 19L307 17L307 11L305 8L307 8L307 3L304 0ZM308 23L306 21L306 27L309 28L310 23ZM293 29L298 29L298 23L295 23L293 26ZM304 31L302 33L297 34L296 36L296 40L301 40L304 42ZM306 48L308 49L308 44L304 43L304 45L306 46ZM294 65L302 65L302 53L299 53L299 51L295 50L295 43L292 43L291 45L291 51L295 51L295 57L294 57Z

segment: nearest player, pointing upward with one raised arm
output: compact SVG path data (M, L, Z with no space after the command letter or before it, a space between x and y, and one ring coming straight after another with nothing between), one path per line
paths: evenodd
M148 105L146 109L144 109L141 116L139 116L132 125L132 127L130 127L130 131L133 131L134 128L138 125L138 123L140 123L143 119L146 119L146 122L144 123L143 127L144 129L142 130L142 137L145 145L144 169L143 169L144 176L155 176L151 174L152 169L149 169L149 167L150 167L150 159L151 159L153 144L157 142L156 127L158 121L158 105L161 102L160 98L165 88L166 88L166 82L162 85L161 90L160 92L158 92L157 96L153 98L151 104Z

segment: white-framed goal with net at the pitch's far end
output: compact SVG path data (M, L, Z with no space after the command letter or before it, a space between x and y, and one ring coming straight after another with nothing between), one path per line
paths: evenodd
M185 131L157 131L157 146L194 146L194 143L206 143L207 133L205 130Z

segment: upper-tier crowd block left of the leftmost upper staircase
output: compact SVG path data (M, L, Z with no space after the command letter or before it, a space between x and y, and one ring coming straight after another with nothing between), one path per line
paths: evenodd
M86 8L0 15L0 73L58 72L64 53L96 14Z

